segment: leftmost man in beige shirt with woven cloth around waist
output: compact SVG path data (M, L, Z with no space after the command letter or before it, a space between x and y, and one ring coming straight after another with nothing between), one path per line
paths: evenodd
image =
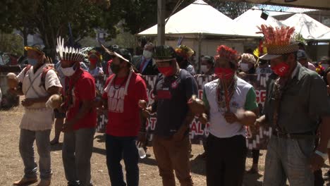
M27 50L29 66L17 76L20 86L10 90L25 95L22 101L25 113L20 122L19 142L20 156L25 167L24 177L13 185L29 185L37 182L37 163L33 149L33 143L36 141L41 178L38 186L46 186L51 182L49 135L54 114L53 109L47 108L45 103L52 94L59 92L61 83L54 70L45 72L47 59L39 46L25 46L25 50Z

